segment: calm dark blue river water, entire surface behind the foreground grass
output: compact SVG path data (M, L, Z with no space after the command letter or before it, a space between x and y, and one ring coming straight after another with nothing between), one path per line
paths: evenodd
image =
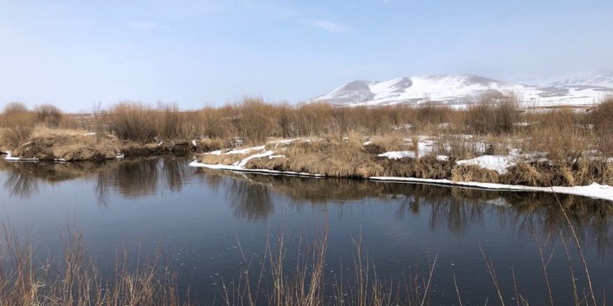
M95 261L110 269L116 252L160 246L201 304L219 302L219 284L240 275L240 250L261 261L268 233L291 234L291 266L301 234L329 232L330 275L352 273L352 237L378 277L399 281L424 275L437 255L431 305L499 304L479 248L491 259L506 303L515 304L513 271L522 296L546 303L541 257L559 305L572 302L568 259L580 291L587 282L566 219L552 195L396 184L350 179L243 175L189 168L187 159L111 163L7 163L0 161L3 221L38 245L37 254L61 255L60 234L69 222L84 231ZM591 271L598 299L613 300L613 204L560 196ZM553 255L550 257L550 252ZM350 267L350 268L348 268ZM421 276L420 276L421 277ZM421 280L421 278L420 278Z

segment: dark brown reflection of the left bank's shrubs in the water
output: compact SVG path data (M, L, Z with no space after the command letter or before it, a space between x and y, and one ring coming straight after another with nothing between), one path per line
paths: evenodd
M142 198L157 194L160 188L180 192L194 170L185 159L143 158L107 162L75 163L8 163L0 161L5 177L3 188L15 198L36 195L41 184L82 179L93 182L100 204L107 204L109 195Z

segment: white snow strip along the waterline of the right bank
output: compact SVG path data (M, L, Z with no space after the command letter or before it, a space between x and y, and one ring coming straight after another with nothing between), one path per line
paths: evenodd
M449 179L417 179L414 177L369 177L375 181L387 182L410 182L410 183L426 183L426 184L444 184L453 186L465 186L495 189L503 191L542 191L548 193L563 193L567 195L581 195L584 197L613 201L613 186L600 185L593 183L589 186L574 186L574 187L531 187L521 185L506 185L492 184L479 182L453 182Z

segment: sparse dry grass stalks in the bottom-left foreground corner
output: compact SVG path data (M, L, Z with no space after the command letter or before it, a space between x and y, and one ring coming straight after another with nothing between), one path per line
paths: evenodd
M129 252L116 262L114 275L102 277L85 246L84 236L68 227L63 257L37 264L35 247L21 241L4 224L0 245L0 305L182 305L176 275L162 253L132 265Z

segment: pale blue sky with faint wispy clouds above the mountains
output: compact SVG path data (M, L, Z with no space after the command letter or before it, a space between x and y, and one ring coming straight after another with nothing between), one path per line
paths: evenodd
M613 1L0 0L0 108L306 102L356 79L613 67Z

